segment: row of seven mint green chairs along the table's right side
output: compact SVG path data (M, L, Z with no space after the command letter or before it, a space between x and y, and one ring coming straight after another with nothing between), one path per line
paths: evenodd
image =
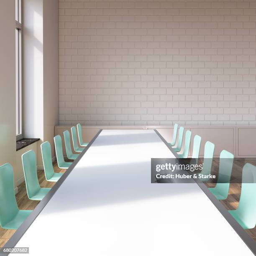
M182 141L184 134L184 127L179 127L178 124L174 124L174 132L172 142L169 145L175 152L179 154L181 158L187 158L189 154L189 147L191 141L191 131L186 131L184 148L182 151ZM177 139L177 133L178 139ZM201 137L199 135L194 136L192 159L198 159L199 151L201 146ZM201 174L209 175L212 168L212 158L214 153L215 145L207 141L204 149L204 165ZM225 200L228 198L228 192L230 187L230 178L233 169L234 155L230 152L223 150L220 152L220 164L218 170L218 180L216 186L209 188L210 192L218 200ZM207 179L202 179L207 181ZM242 171L242 186L241 196L236 210L228 211L233 218L244 228L254 228L256 225L256 166L252 164L245 164Z

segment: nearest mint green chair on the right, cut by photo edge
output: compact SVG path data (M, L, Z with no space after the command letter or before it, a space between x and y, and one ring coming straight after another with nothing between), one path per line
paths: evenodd
M244 228L255 228L256 225L256 166L243 166L241 197L236 210L228 211Z

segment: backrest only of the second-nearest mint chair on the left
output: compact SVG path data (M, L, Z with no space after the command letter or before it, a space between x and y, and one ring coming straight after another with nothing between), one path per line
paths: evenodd
M36 172L36 154L33 150L29 150L21 156L21 159L28 198L31 198L40 190Z

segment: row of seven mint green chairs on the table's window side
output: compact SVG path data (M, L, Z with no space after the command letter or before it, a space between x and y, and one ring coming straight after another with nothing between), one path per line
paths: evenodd
M88 143L83 142L82 127L78 123L76 127L71 128L74 151L81 153ZM79 144L77 143L77 133ZM79 154L73 154L70 143L69 131L64 131L65 148L67 158L74 160ZM59 168L68 169L72 162L64 161L62 151L61 136L54 137L55 151ZM44 174L49 182L57 182L62 173L54 172L51 156L51 144L46 141L41 144L41 154L44 164ZM36 154L29 150L21 156L23 172L26 182L28 198L30 200L42 200L51 188L40 187L36 170ZM13 166L9 163L0 166L0 225L5 229L18 229L23 221L30 215L31 210L18 209L15 198Z

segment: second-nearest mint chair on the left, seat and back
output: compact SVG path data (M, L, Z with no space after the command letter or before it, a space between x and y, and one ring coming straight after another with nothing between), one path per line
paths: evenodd
M29 150L21 156L21 159L28 198L40 201L51 189L39 185L36 171L36 154L33 150Z

